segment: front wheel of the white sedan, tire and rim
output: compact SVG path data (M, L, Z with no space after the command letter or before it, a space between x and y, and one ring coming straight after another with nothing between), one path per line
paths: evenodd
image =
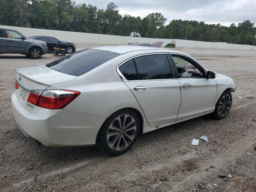
M215 119L224 119L230 111L232 105L232 94L226 90L220 96L215 105L215 110L212 113Z

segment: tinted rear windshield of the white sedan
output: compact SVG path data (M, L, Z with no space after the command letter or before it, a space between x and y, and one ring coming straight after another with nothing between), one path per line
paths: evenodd
M119 55L119 53L110 51L86 49L46 64L46 66L65 74L80 76Z

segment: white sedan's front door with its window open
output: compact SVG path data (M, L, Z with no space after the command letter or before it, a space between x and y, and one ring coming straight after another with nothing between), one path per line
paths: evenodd
M172 62L181 85L177 121L210 112L217 96L215 80L206 78L204 68L192 58L172 54Z

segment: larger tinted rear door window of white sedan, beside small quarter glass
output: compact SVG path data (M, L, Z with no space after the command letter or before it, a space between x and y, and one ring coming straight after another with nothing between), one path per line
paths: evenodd
M166 54L141 56L135 58L134 61L140 80L172 78Z

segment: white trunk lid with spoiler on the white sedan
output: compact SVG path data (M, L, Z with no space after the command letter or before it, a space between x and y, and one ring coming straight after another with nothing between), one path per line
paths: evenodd
M46 90L48 86L63 82L72 81L76 76L64 74L52 70L45 65L27 68L18 68L16 81L19 88L16 89L17 98L28 111L32 112L34 105L27 102L31 90Z

